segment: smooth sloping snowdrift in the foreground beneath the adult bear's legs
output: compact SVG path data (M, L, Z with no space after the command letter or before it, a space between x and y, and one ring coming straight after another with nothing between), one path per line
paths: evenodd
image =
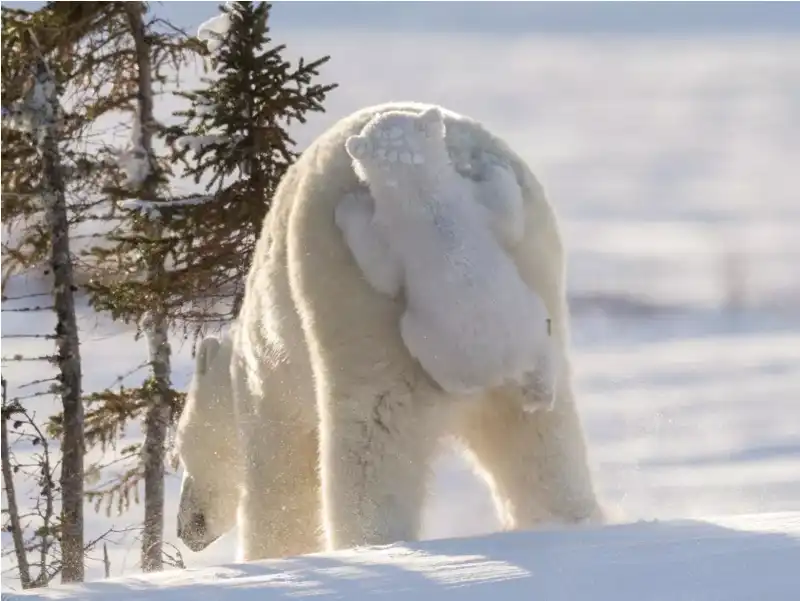
M397 544L4 593L8 601L797 601L800 512Z

